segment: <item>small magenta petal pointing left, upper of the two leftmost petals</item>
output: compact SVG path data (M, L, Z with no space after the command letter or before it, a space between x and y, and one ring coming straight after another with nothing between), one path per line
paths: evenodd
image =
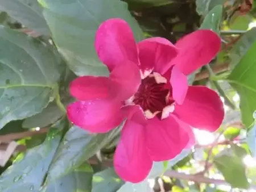
M110 80L108 77L82 76L73 80L70 93L79 100L103 99L109 97Z

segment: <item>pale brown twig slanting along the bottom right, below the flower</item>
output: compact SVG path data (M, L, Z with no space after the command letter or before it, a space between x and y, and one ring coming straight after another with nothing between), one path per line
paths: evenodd
M172 178L177 178L180 180L189 180L193 182L198 182L198 183L210 183L210 184L215 184L215 185L229 185L230 183L224 181L224 180L216 180L208 177L204 177L200 174L185 174L185 173L179 173L174 170L167 170L164 173L164 176L172 177ZM256 189L255 185L251 185L251 189Z

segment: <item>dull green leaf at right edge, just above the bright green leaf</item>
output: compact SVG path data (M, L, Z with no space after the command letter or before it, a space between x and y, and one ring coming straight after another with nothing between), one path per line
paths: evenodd
M240 39L233 45L229 51L229 57L231 59L230 68L234 68L242 59L243 56L249 51L251 46L256 40L256 27L245 32Z

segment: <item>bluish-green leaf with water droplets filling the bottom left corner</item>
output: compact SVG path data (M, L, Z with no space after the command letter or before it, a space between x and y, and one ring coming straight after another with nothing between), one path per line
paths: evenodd
M39 191L44 176L61 139L60 122L51 128L42 145L30 149L22 160L17 160L0 177L2 192Z

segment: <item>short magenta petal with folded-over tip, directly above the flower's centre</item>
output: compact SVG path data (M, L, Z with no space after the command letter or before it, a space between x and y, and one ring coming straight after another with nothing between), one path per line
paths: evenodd
M176 47L167 39L152 37L138 43L140 68L143 74L154 68L162 73L163 68L177 56Z

